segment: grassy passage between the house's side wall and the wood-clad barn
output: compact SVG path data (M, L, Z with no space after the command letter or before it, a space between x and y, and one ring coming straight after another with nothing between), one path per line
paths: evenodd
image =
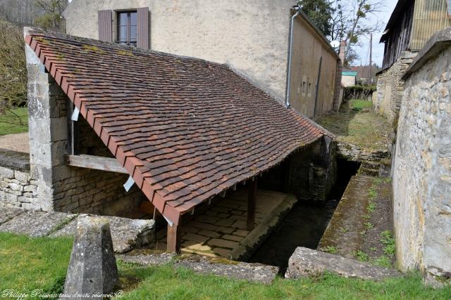
M362 150L386 150L392 126L370 111L371 101L350 100L340 112L321 117L318 123L337 136L337 140L359 146Z

